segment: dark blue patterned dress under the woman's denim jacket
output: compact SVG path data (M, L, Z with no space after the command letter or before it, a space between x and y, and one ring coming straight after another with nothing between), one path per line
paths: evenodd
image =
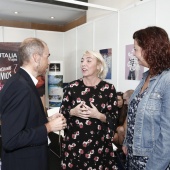
M128 110L128 121L127 121L127 143L128 143L128 155L126 157L126 170L145 170L148 157L145 156L134 156L133 155L133 136L134 136L134 126L135 117L139 102L142 100L144 95L146 95L147 89L142 93L138 94L130 103ZM166 168L170 170L170 166Z

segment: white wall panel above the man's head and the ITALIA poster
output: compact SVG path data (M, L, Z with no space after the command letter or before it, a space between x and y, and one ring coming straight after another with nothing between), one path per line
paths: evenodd
M35 30L4 27L4 42L22 42L28 37L35 37Z

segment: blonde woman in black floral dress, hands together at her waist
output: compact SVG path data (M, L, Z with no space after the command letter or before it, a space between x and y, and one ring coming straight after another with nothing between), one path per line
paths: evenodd
M117 169L112 148L118 111L116 90L103 79L106 63L100 53L81 58L83 78L65 88L61 112L67 119L62 169Z

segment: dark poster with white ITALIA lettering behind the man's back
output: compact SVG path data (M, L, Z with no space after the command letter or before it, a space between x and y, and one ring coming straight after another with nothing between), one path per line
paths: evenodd
M5 82L19 69L18 42L0 42L0 91Z

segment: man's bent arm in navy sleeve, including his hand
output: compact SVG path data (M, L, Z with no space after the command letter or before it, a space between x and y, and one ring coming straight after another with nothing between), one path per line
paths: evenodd
M37 96L21 81L11 83L3 93L1 104L3 148L8 151L44 145L47 132L66 126L62 116L46 123Z

